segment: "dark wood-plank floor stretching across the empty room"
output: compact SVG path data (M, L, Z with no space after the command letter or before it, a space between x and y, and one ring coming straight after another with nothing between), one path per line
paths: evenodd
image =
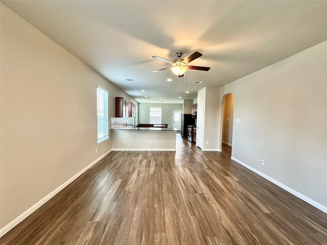
M223 153L111 152L1 244L327 244L327 214Z

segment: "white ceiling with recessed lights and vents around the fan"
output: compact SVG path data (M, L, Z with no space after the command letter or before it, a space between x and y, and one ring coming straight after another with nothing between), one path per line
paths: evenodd
M195 99L203 87L225 85L327 40L327 1L1 2L139 103ZM151 72L169 66L152 56L173 60L176 51L182 58L198 51L203 56L190 65L211 67L186 71L190 93L184 96L180 78L182 99L169 69Z

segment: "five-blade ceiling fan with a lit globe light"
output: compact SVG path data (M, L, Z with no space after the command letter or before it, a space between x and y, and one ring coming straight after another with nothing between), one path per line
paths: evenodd
M164 58L161 58L159 56L152 56L155 59L167 62L169 64L171 64L171 67L166 67L166 68L162 68L162 69L158 69L158 70L152 70L152 72L157 72L160 70L167 70L167 69L171 69L171 71L174 72L174 74L178 77L183 77L184 76L184 72L187 69L192 69L192 70L205 70L208 71L210 69L210 67L204 67L204 66L194 66L194 65L187 65L189 64L191 61L199 58L202 56L201 53L199 52L194 52L192 55L186 57L185 59L180 58L183 54L180 52L176 53L177 58L174 59L173 61L169 61L166 60Z

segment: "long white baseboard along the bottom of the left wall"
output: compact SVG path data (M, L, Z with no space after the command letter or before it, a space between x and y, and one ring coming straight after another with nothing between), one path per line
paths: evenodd
M16 217L14 220L12 220L9 224L4 226L0 230L0 237L5 235L8 231L10 231L12 228L14 228L16 225L18 225L22 220L27 218L30 214L32 214L35 210L37 210L39 207L41 207L44 203L48 202L51 198L53 198L59 191L61 191L63 188L65 188L67 185L72 183L74 180L76 180L79 176L81 176L87 169L89 169L91 166L99 162L102 158L104 158L106 155L108 155L111 152L109 150L105 154L103 154L101 157L93 161L88 166L84 167L81 171L79 171L76 175L74 175L72 178L64 182L62 185L60 185L58 188L50 192L48 195L46 195L44 198L42 198L40 201L38 201L36 204L34 204L32 207L30 207L28 210L26 210L24 213L20 214L18 217Z

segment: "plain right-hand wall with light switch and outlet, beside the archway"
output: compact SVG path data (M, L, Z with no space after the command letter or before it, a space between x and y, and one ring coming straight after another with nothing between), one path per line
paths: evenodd
M230 83L221 96L234 97L232 157L327 211L326 46L327 41Z

